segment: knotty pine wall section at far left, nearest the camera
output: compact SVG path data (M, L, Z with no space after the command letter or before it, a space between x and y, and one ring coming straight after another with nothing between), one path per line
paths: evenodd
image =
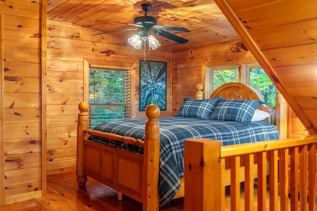
M41 6L41 0L0 1L0 205L46 194Z

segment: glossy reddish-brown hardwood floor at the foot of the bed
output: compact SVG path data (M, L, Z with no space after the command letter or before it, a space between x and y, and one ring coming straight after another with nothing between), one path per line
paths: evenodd
M116 191L88 178L79 188L76 173L48 176L47 196L39 199L0 206L0 211L142 211L142 204L128 197L117 200ZM183 198L175 199L161 211L183 211Z

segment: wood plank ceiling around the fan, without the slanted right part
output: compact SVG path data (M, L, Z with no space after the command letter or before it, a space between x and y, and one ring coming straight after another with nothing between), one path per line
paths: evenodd
M159 47L160 50L179 52L241 40L213 0L48 0L47 18L96 32L137 29L123 23L133 24L134 17L144 15L141 3L152 5L147 15L156 17L159 26L184 27L191 31L168 31L189 40L186 44L179 44L153 33L160 43L164 43ZM109 34L127 40L139 31Z

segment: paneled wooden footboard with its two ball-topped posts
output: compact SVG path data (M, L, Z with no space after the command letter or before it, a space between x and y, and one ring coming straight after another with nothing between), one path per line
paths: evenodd
M77 182L84 187L87 176L143 203L144 211L159 210L159 107L146 109L145 140L89 130L88 104L78 106ZM144 146L144 155L87 140L88 134Z

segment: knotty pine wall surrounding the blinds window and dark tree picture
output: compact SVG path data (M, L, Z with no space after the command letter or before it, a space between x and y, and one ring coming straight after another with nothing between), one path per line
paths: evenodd
M74 171L78 104L83 101L83 61L135 66L135 118L139 111L139 61L144 49L136 50L125 40L67 23L47 22L47 170L48 175ZM100 53L107 51L106 53ZM147 50L147 60L167 62L167 109L171 113L171 53Z

